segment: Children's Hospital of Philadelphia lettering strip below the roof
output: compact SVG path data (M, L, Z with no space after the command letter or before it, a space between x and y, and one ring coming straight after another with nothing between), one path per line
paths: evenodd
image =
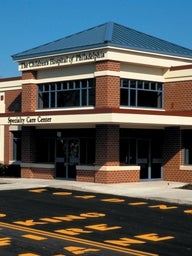
M19 70L37 69L42 67L55 67L86 61L96 61L105 57L104 50L81 52L47 58L38 58L19 62Z

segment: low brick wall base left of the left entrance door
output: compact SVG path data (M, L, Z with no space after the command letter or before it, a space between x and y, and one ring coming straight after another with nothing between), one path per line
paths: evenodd
M54 179L55 170L45 168L21 168L21 178Z

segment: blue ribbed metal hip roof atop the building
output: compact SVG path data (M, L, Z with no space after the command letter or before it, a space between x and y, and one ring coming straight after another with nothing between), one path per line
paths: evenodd
M114 46L125 49L192 58L192 50L114 22L84 30L57 41L13 55L16 61L71 51Z

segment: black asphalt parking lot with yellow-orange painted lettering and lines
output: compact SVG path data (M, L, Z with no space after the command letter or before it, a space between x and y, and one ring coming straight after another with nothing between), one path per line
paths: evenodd
M189 205L57 188L0 199L0 255L192 254Z

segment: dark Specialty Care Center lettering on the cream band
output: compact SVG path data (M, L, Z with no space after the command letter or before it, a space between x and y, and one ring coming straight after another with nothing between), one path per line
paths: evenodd
M37 123L51 123L52 118L51 117L22 117L22 116L17 116L17 117L8 117L8 124L10 125L24 125L24 124L37 124Z

